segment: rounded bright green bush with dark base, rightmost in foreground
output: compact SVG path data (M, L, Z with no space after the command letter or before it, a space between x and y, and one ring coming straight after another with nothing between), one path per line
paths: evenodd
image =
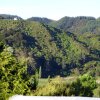
M93 90L96 88L96 81L95 79L88 75L88 74L85 74L83 76L80 76L79 77L79 80L76 81L76 86L78 84L80 84L80 89L77 89L79 91L79 94L80 96L93 96ZM77 93L75 91L75 93Z

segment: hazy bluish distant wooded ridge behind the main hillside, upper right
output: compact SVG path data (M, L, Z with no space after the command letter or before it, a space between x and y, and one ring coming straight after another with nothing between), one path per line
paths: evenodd
M29 19L30 21L38 21L35 20L34 17ZM41 18L41 20L43 20ZM63 17L60 20L53 21L51 20L49 23L46 23L45 20L42 23L51 25L53 27L59 28L63 31L70 31L75 34L82 34L82 33L95 33L99 34L100 30L100 18L94 17L87 17L87 16L78 16L78 17Z

